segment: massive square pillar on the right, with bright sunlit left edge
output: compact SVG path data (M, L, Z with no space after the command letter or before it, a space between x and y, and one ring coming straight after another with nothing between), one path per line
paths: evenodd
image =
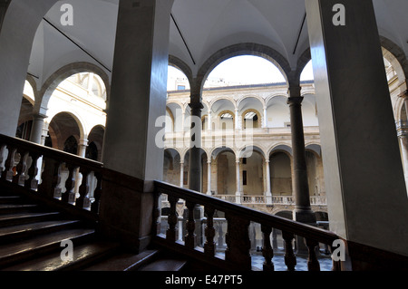
M345 25L333 23L337 4ZM306 0L306 13L330 230L349 252L361 244L408 255L408 199L373 2Z

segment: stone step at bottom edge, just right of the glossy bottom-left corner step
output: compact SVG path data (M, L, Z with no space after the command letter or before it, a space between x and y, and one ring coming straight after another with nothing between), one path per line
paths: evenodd
M152 262L157 255L157 250L146 250L138 255L122 253L84 268L83 271L136 271L141 266Z

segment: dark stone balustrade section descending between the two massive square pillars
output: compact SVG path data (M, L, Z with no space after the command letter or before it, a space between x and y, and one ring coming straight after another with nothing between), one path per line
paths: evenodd
M289 220L283 217L272 216L257 210L239 206L226 200L216 197L209 197L198 192L179 188L160 181L155 182L155 204L153 216L153 232L156 237L154 243L157 246L165 247L180 255L187 255L189 258L199 260L219 268L229 270L252 270L251 265L251 243L249 239L249 225L256 223L260 226L262 233L262 255L265 258L264 271L274 271L272 258L274 249L270 242L273 229L280 230L285 242L285 264L289 271L295 270L296 255L294 254L293 242L295 236L304 237L308 249L307 266L309 271L319 271L320 265L316 257L316 247L325 244L329 249L333 249L333 242L339 237L334 233L308 226ZM165 234L161 233L161 212L160 196L167 195L170 203L167 216L167 229ZM182 201L187 207L186 234L184 240L180 240L180 226L178 205ZM197 240L197 228L200 228L201 218L197 217L198 211L202 210L206 217L204 236L202 240ZM221 212L227 220L225 234L225 255L216 254L216 226L217 218L215 214ZM156 220L156 221L154 221ZM203 244L199 247L199 244ZM333 270L339 270L340 264L334 262Z

